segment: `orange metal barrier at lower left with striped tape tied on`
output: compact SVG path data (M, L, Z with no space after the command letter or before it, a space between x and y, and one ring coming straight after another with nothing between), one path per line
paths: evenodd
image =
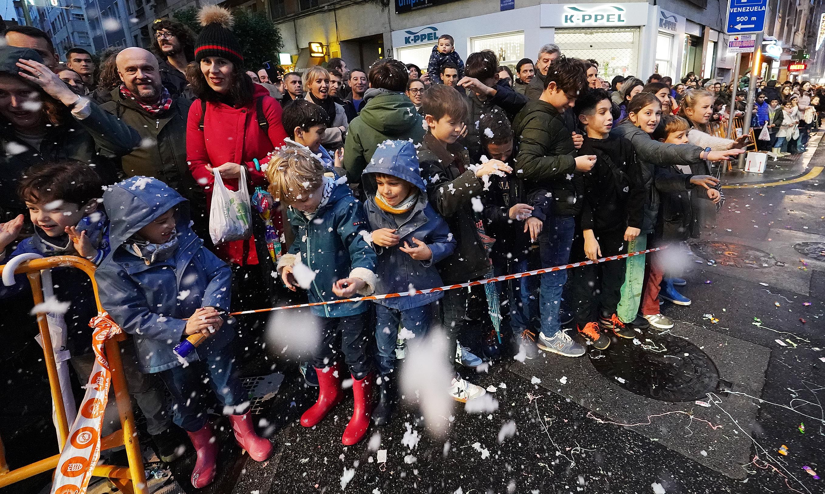
M4 266L0 266L3 268ZM40 281L40 271L49 268L78 268L92 279L92 288L97 303L97 311L103 311L100 298L97 296L97 283L95 282L95 265L86 259L79 257L60 255L43 259L31 259L16 269L15 273L26 273L31 285L31 293L35 305L43 302L43 289ZM63 398L60 393L60 383L58 381L57 365L54 362L52 352L51 335L49 325L46 322L45 314L37 315L37 326L40 329L40 337L43 339L43 357L46 364L46 373L49 375L49 387L51 390L54 411L57 420L57 430L59 433L59 449L62 451L68 438L69 424L66 420L66 410ZM137 430L134 427L134 415L132 413L132 401L129 390L123 375L123 364L120 360L120 347L118 341L125 340L125 335L117 335L115 338L106 340L106 359L111 367L111 386L115 390L115 401L120 415L121 429L101 439L101 451L117 446L125 446L126 457L129 459L129 467L118 467L115 465L105 465L97 463L92 475L95 477L108 477L121 492L126 494L148 494L146 486L146 476L144 473L144 462L140 454L140 446L137 440ZM8 469L5 450L2 439L0 439L0 488L11 485L14 482L33 477L38 473L57 467L59 454L43 458L14 470Z

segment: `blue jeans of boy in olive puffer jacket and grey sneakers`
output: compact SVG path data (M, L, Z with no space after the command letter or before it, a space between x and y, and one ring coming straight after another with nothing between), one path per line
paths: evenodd
M539 236L539 256L542 268L568 264L570 246L573 245L575 232L576 220L573 216L552 217L544 221L544 227ZM546 338L552 338L559 330L559 304L562 300L564 283L567 282L567 270L562 269L540 276L541 333Z

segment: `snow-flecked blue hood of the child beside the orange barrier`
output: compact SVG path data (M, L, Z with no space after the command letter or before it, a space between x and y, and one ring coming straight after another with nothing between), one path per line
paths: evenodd
M115 183L103 192L103 205L111 218L110 255L172 207L178 207L175 217L178 234L189 230L189 202L157 178L132 177Z

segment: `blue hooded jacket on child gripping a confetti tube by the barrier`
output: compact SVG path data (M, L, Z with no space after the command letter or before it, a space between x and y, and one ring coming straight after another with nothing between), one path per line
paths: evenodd
M111 251L95 272L100 300L111 318L130 335L144 373L181 365L172 349L184 340L185 319L198 308L229 311L232 271L203 246L189 227L189 206L181 194L156 178L132 177L103 193L111 218ZM166 244L134 252L134 235L177 207L175 235ZM220 352L234 330L224 325L205 340L198 354ZM229 355L226 357L229 358Z

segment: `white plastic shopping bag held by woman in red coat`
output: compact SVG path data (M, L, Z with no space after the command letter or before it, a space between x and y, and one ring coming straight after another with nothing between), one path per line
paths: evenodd
M252 214L249 210L246 170L241 165L238 192L226 188L218 170L213 171L212 206L209 212L209 235L212 242L218 245L248 239L252 234Z

